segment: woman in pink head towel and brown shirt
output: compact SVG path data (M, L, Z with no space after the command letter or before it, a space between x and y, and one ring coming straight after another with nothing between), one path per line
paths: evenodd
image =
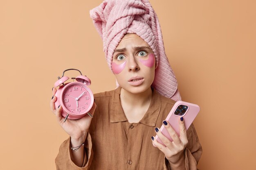
M202 147L193 124L186 131L186 120L179 120L179 137L164 120L175 100L181 98L164 52L159 21L150 3L105 0L90 15L103 39L106 59L118 87L94 94L95 103L90 110L93 118L85 116L65 123L61 106L55 108L56 97L52 98L51 109L70 135L61 144L56 168L197 169ZM157 128L162 124L173 142ZM156 134L167 147L154 140Z

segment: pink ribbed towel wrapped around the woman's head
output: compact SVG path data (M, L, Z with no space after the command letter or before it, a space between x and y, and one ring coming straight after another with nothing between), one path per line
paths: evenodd
M90 10L97 32L103 40L103 50L110 70L113 53L126 33L139 35L156 57L152 86L168 98L181 100L177 80L164 51L164 42L157 15L148 0L104 0Z

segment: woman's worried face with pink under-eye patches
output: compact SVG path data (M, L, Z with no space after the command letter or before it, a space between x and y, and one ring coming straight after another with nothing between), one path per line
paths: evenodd
M145 92L155 78L155 55L137 34L126 34L113 54L112 70L128 92Z

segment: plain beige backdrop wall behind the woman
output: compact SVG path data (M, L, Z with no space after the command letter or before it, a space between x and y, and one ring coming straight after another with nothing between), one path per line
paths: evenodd
M198 168L255 169L255 1L150 2L182 99L201 107L194 122L203 146ZM94 93L115 88L89 15L100 3L0 0L1 170L55 169L68 136L49 101L63 70L81 70Z

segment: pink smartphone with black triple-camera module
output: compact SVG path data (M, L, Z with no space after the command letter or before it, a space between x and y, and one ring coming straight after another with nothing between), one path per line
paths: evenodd
M180 136L180 126L179 126L180 117L183 117L183 120L185 122L185 127L186 127L186 129L189 129L189 126L191 125L191 123L193 122L195 117L198 115L199 111L200 111L200 107L198 105L195 105L195 104L192 104L189 102L184 102L184 101L177 101L173 105L173 108L171 109L170 113L168 114L168 116L165 120L168 121L169 124L171 124L173 129L176 131L177 135ZM160 131L171 142L173 142L173 139L169 135L164 124L162 124ZM155 136L155 139L160 144L163 144L165 146L165 144L162 142L162 140L157 135Z

